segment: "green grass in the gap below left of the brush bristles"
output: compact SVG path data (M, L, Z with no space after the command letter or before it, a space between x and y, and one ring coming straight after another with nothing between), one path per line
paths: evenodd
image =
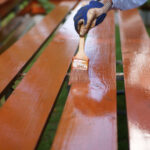
M59 124L60 117L62 115L64 105L66 103L66 99L68 96L68 78L64 80L63 86L61 88L61 91L59 92L59 95L56 99L56 104L51 112L49 119L47 121L47 125L43 131L43 134L39 140L38 146L36 150L49 150L54 136L56 134L56 130Z

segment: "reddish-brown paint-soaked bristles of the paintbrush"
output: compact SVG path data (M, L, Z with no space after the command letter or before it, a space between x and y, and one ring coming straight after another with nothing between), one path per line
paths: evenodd
M72 69L70 73L69 85L73 83L88 83L88 70Z

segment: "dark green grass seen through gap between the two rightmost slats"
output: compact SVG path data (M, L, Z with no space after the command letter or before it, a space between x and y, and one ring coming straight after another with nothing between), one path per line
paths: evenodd
M116 26L116 59L122 61L119 26ZM123 66L117 64L116 71L123 72ZM124 90L124 81L117 81L118 90ZM127 150L129 144L125 95L117 95L117 111L118 150Z

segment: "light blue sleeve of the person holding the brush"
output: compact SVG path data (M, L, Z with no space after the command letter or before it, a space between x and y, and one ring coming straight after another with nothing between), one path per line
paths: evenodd
M112 0L112 8L127 10L143 5L147 0Z

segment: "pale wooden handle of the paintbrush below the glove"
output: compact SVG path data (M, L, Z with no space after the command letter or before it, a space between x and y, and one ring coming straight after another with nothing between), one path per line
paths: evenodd
M79 50L75 58L88 60L88 57L86 56L85 51L84 51L84 47L85 47L85 37L80 37Z

